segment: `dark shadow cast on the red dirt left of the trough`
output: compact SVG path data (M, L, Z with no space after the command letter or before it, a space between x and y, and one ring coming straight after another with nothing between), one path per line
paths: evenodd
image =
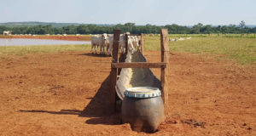
M56 115L78 115L79 117L90 117L85 123L87 124L105 124L105 125L117 125L120 124L119 114L112 114L110 111L109 102L109 82L108 76L104 82L102 82L101 88L98 89L96 95L91 99L90 103L84 108L83 111L79 110L61 110L61 111L41 111L31 110L20 112L32 112L32 113L49 113Z

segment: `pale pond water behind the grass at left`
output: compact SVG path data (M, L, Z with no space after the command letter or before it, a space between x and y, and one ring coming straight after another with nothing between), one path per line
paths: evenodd
M0 38L0 46L67 45L67 44L90 44L90 41L65 41L65 40L26 39L26 38Z

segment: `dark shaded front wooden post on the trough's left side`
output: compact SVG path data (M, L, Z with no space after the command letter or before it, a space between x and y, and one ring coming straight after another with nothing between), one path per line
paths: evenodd
M119 36L120 36L121 30L115 29L113 30L113 59L112 62L116 63L119 62ZM110 73L110 105L111 105L111 111L115 112L115 103L116 103L116 81L117 81L117 74L118 74L117 68L111 68Z

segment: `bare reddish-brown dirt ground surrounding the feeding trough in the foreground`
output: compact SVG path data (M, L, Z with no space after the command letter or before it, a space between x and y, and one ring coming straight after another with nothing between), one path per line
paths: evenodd
M86 51L0 59L0 135L147 135L109 115L110 61ZM253 65L174 53L167 77L169 114L149 135L256 135Z

